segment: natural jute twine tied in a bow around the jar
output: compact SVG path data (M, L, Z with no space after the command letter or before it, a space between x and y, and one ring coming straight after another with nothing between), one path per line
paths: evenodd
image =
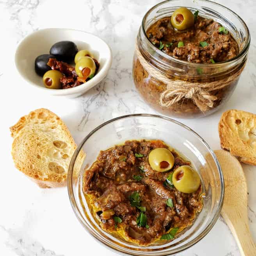
M162 107L171 107L171 105L178 103L180 100L191 99L201 112L206 112L210 108L213 108L214 101L218 99L216 96L212 95L211 92L229 86L231 82L234 82L240 76L245 66L243 65L238 72L222 80L192 83L184 80L172 80L151 66L142 56L137 45L137 40L135 52L140 64L149 75L166 84L166 90L161 93L159 100L159 104Z

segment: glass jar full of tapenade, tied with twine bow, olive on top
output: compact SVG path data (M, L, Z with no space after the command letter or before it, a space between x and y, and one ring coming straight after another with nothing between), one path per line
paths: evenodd
M208 116L235 90L249 45L244 21L220 4L162 2L145 14L139 29L133 59L135 86L146 103L162 114Z

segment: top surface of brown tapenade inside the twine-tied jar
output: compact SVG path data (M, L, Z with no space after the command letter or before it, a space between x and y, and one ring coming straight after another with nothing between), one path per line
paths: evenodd
M194 21L193 14L187 8L180 9L183 9L181 13L184 18L192 19L190 26L182 27L182 31L176 30L171 22L176 21L173 19L175 12L171 17L156 21L147 30L149 40L156 47L176 59L195 63L221 62L232 59L238 54L238 44L221 24L198 15ZM191 13L192 18L187 17L187 12ZM185 21L184 19L182 23Z

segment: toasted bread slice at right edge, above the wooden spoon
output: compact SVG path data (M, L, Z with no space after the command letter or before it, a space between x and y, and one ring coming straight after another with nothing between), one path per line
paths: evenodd
M228 110L219 122L223 149L245 164L256 165L256 115L242 110Z

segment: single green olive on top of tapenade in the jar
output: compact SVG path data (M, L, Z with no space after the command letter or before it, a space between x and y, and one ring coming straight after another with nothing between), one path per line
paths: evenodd
M171 23L178 30L186 30L194 25L194 14L186 7L181 7L172 14Z

